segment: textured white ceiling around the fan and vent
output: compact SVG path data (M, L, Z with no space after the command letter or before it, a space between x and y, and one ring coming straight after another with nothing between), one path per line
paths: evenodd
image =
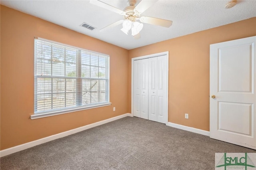
M128 0L101 1L121 10L128 6ZM137 4L139 2L140 0ZM1 0L0 3L104 42L133 49L256 16L256 0L240 0L233 8L226 9L228 2L229 0L158 0L141 16L172 20L173 24L170 28L144 24L139 40L124 34L120 30L122 24L99 32L123 17L90 4L89 0ZM81 27L84 22L96 29L90 31Z

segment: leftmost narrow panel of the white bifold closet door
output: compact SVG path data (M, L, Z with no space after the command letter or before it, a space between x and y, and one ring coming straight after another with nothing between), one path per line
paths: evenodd
M133 113L135 117L141 116L141 60L134 61L134 106Z

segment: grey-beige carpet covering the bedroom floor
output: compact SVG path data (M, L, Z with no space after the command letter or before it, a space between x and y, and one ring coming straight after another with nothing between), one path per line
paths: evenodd
M214 170L215 152L256 152L136 117L0 159L1 170Z

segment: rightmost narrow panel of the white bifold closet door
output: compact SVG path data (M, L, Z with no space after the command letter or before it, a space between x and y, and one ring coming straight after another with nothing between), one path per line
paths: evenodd
M167 112L167 57L162 55L157 57L157 121L166 123Z

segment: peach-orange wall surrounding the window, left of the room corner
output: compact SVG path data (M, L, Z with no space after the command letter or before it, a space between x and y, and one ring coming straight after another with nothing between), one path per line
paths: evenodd
M128 113L128 50L6 6L0 11L1 150ZM34 36L110 55L112 105L31 120Z

